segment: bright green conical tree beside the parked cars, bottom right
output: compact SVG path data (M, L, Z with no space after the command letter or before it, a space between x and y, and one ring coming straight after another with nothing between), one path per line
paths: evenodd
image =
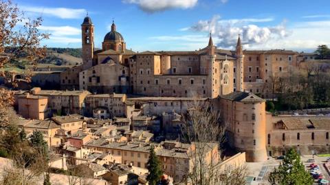
M311 185L314 183L295 149L289 149L280 166L270 173L268 181L273 185Z

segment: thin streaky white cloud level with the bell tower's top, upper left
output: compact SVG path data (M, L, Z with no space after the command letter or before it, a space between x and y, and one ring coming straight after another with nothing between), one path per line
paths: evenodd
M44 8L34 6L20 6L20 8L26 12L56 16L58 18L83 18L87 12L85 9L72 8Z

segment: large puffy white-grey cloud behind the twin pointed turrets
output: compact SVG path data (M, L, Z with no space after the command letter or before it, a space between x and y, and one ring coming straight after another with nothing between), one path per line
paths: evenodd
M220 47L233 47L236 45L237 36L242 35L243 45L265 43L272 39L285 38L289 35L285 22L276 27L259 27L251 23L264 23L273 21L273 18L243 18L221 20L214 16L207 21L198 21L190 27L195 32L212 32L219 39Z

